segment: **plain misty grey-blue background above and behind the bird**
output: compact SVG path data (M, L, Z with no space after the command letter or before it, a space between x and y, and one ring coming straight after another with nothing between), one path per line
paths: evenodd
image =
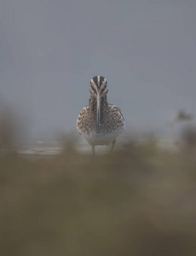
M170 134L196 115L195 1L2 0L0 108L29 137L76 131L89 81L107 78L127 131Z

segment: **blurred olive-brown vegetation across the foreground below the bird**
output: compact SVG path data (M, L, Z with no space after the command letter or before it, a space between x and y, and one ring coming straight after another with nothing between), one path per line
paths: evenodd
M196 160L148 141L113 154L0 157L0 255L196 255Z

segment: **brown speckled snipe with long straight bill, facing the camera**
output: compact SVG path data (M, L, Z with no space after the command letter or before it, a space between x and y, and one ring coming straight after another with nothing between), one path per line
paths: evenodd
M124 116L115 105L107 102L107 79L95 76L90 80L89 105L78 115L78 132L86 139L95 155L95 145L112 143L113 151L116 138L124 131Z

